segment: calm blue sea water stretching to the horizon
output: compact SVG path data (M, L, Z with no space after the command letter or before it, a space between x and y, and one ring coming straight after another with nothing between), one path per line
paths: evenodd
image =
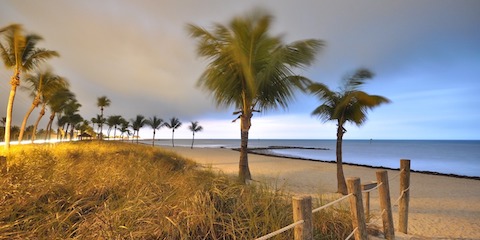
M148 141L145 141L148 143ZM171 145L171 140L158 140ZM190 139L175 140L175 146L190 146ZM249 147L290 146L329 150L276 149L274 154L313 160L335 160L335 140L256 140ZM238 148L240 140L195 140L195 147ZM477 140L344 140L343 161L369 166L399 168L400 159L410 159L411 168L480 177L480 141Z

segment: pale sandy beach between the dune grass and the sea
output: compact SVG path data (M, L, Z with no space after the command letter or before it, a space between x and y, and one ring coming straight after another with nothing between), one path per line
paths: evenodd
M223 148L163 147L215 171L236 175L239 152ZM252 178L293 194L314 197L334 194L336 168L333 163L304 161L249 154ZM400 161L399 161L400 165ZM375 181L379 169L344 166L346 177ZM399 196L399 171L388 170L392 204ZM423 173L411 173L408 235L398 239L480 239L480 181ZM397 206L392 206L395 227ZM379 216L378 194L371 194L371 211ZM372 220L373 222L376 219ZM380 226L381 221L378 221Z

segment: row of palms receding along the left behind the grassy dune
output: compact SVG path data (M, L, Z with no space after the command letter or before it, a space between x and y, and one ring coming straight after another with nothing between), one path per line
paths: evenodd
M144 125L149 125L154 129L153 143L155 140L155 130L166 126L172 129L172 133L176 128L180 127L181 122L177 118L172 118L171 122L164 122L162 119L154 116L151 119L145 119L142 115L138 115L130 122L125 120L122 116L113 115L108 118L103 117L105 107L110 105L110 99L106 96L97 99L97 106L100 107L100 115L91 119L90 122L84 119L79 114L79 109L82 106L76 99L75 94L69 88L69 82L65 77L58 76L53 70L43 64L52 57L59 57L58 52L38 48L36 45L43 38L37 34L25 34L23 26L20 24L12 24L0 29L0 54L5 66L13 69L13 75L10 79L10 95L7 104L7 116L1 119L3 128L1 133L5 141L5 149L10 148L10 141L18 138L21 143L25 138L32 142L36 140L37 135L40 134L45 140L50 140L52 132L53 121L56 117L58 129L56 131L57 138L73 139L78 138L103 138L103 125L108 125L108 137L112 128L114 129L113 136L116 137L117 129L121 132L121 137L124 135L130 136L130 128L133 134L139 137L139 130ZM23 77L23 75L25 75ZM22 76L22 77L21 77ZM22 81L21 81L22 80ZM26 91L32 98L32 104L25 114L20 127L12 125L13 104L17 88ZM40 107L39 115L33 125L27 126L28 119L31 113ZM38 124L45 115L47 108L51 114L45 129L38 129ZM97 132L94 131L94 126L99 126ZM202 127L198 122L192 122L190 126L193 136L195 132L201 131ZM75 136L75 133L77 136ZM133 139L133 138L132 138ZM172 134L172 145L173 134ZM192 141L193 147L193 141Z

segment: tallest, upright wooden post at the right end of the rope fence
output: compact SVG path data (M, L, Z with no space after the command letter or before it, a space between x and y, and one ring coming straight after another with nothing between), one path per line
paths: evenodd
M408 202L410 201L410 160L400 159L400 201L398 203L398 231L407 234Z

